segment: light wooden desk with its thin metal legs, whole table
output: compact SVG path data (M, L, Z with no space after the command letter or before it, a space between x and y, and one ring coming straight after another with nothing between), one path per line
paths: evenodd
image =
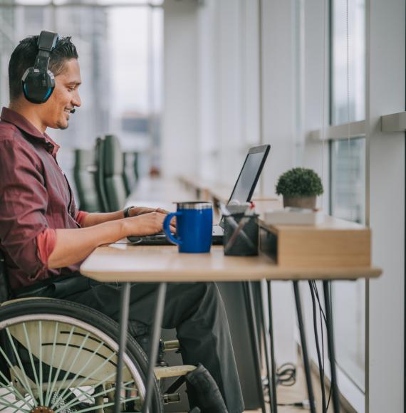
M303 326L303 315L301 311L301 299L298 290L300 280L323 280L323 291L326 302L326 318L328 332L328 350L330 360L335 360L333 345L332 315L330 309L330 297L328 282L333 280L355 280L357 278L375 278L380 276L380 269L373 267L350 267L350 268L283 268L277 266L271 258L260 255L254 257L224 256L222 246L212 246L211 253L187 254L179 253L176 246L108 246L96 249L80 266L80 272L85 276L94 278L101 282L118 281L125 283L123 289L123 307L128 307L130 282L160 282L159 299L161 314L156 315L156 323L152 336L157 339L158 328L162 322L163 306L165 302L165 291L167 282L196 282L196 281L269 281L282 280L293 281L295 293L296 310L298 314L298 325L301 333L303 350L303 362L305 365L306 381L308 383L308 394L313 400L313 388L311 387L311 372L308 362L306 335ZM269 300L271 298L269 282ZM124 292L127 290L127 292ZM270 301L269 301L270 303ZM272 331L272 313L269 305L270 336L266 340L266 346L271 348L272 360L272 394L276 394L274 344ZM252 312L252 310L251 310ZM122 314L125 310L122 310ZM158 313L158 312L157 312ZM121 328L127 330L127 323L122 319ZM251 331L251 334L254 332ZM156 339L156 340L157 340ZM152 340L154 343L155 340ZM157 347L157 343L155 345ZM152 349L154 345L152 345ZM151 356L151 361L155 360ZM257 363L258 364L258 363ZM267 362L267 365L269 362ZM151 366L155 362L151 362ZM335 379L335 362L332 365L333 404L335 412L339 411L338 387ZM152 377L152 372L151 372ZM150 378L150 380L152 380ZM148 394L148 391L147 391ZM274 396L276 406L276 396ZM275 411L275 410L274 410ZM316 413L314 405L311 411Z

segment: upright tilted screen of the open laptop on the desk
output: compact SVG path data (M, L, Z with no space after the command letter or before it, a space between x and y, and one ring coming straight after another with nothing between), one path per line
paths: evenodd
M268 156L269 148L269 145L262 145L252 147L249 150L233 192L231 192L229 202L231 199L236 199L236 201L241 203L251 201L256 182L258 182L259 175L261 174L266 157Z

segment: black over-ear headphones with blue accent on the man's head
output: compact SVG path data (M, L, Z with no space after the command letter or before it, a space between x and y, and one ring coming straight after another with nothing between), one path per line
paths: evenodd
M28 68L21 79L26 100L31 103L46 103L55 88L53 73L48 70L51 51L56 46L58 34L41 31L38 36L38 54L32 68Z

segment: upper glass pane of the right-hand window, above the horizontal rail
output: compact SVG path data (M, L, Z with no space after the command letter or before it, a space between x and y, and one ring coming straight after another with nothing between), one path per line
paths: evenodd
M365 119L365 0L348 0L349 53L345 1L333 0L332 7L331 123L340 125Z

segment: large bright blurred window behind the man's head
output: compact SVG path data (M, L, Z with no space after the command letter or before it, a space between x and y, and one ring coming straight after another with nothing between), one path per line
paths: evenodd
M51 131L61 144L62 169L73 182L72 149L92 147L96 137L114 132L124 150L142 152L139 167L145 173L160 140L162 9L145 1L116 7L42 3L0 5L1 104L9 102L7 66L18 41L43 28L72 36L79 54L82 107L67 130Z

